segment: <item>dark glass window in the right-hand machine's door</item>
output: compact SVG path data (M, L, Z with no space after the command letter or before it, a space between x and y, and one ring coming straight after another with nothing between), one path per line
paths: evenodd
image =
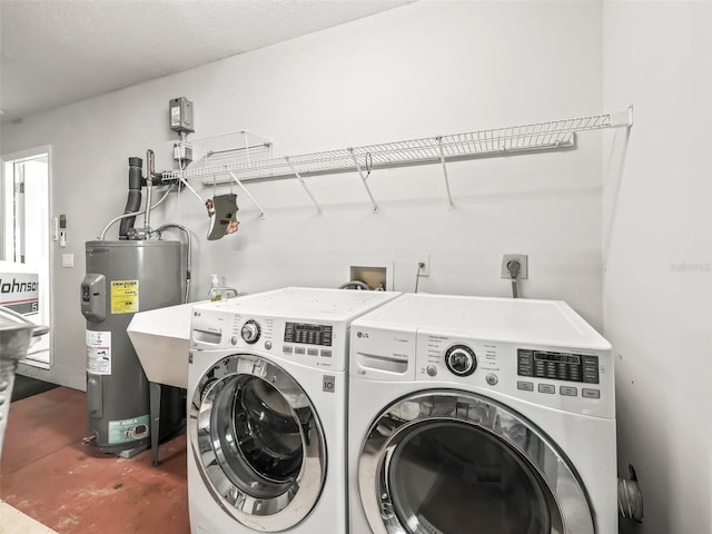
M537 475L510 446L476 426L411 427L387 476L394 512L409 534L551 533Z

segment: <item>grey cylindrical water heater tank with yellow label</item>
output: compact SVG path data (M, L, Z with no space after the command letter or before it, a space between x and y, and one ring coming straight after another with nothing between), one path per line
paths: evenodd
M87 241L86 251L89 437L102 452L128 457L148 447L151 425L148 380L126 329L137 312L181 303L180 243ZM182 416L180 392L168 393L161 395L161 429Z

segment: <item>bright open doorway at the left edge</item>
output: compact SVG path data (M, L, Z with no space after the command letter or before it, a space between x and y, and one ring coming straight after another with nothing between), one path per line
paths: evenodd
M0 194L0 304L51 327L49 147L4 155ZM51 328L22 363L49 370L50 336Z

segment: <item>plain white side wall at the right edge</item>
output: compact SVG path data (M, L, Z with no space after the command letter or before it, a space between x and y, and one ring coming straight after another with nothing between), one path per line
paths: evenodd
M621 532L712 532L712 4L605 2L603 21L604 106L635 105L604 211L619 466L645 513Z

